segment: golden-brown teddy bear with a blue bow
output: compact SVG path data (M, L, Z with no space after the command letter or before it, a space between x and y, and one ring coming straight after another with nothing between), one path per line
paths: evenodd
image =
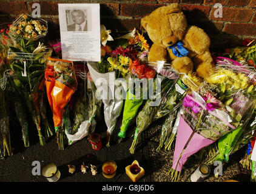
M175 3L157 8L141 19L153 45L149 62L171 61L180 73L189 73L195 68L197 75L207 78L214 72L210 39L198 27L187 26L181 5Z

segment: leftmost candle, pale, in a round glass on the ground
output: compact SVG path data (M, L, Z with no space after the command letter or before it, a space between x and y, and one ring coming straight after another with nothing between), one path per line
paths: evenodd
M42 176L49 182L56 182L61 177L61 172L59 172L55 164L50 163L42 167Z

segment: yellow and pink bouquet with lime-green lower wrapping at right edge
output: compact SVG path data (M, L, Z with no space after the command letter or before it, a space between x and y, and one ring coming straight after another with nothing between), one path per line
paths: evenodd
M252 138L252 120L255 118L255 71L246 65L227 58L217 58L214 75L206 79L206 90L214 92L226 105L235 118L234 132L228 133L218 141L217 153L208 161L228 161L229 155L246 145Z

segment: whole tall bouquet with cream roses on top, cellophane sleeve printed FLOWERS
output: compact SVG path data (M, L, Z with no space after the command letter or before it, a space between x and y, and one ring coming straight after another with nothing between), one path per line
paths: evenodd
M47 22L42 19L35 19L29 15L21 15L10 26L9 35L14 44L9 45L8 59L10 68L13 71L12 81L16 89L16 98L22 98L17 104L26 104L27 109L31 113L38 135L40 144L44 145L44 136L41 132L41 110L45 112L44 106L40 110L40 101L44 91L43 86L38 89L44 79L44 69L46 59L52 55L52 50L39 42L40 38L44 38L47 33ZM42 93L40 92L42 91ZM23 136L27 128L24 123L25 110L19 108L17 114L19 122L22 126ZM24 110L24 111L22 111ZM45 122L45 132L50 134L49 124ZM26 136L26 135L25 135ZM25 138L24 136L24 138ZM25 146L28 146L27 140L24 139Z

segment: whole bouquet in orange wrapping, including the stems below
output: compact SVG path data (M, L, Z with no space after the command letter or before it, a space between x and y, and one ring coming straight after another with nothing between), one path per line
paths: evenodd
M64 109L77 87L73 62L48 58L44 76L59 149L64 149L64 129L62 127Z

